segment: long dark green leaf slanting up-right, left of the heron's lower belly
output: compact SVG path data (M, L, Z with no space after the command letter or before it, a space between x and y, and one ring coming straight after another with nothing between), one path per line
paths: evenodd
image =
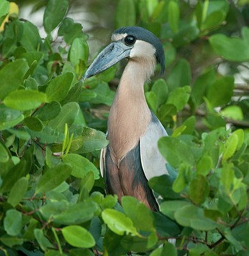
M72 167L69 164L58 164L49 168L39 180L36 186L36 194L45 193L56 188L64 180L68 179L71 172Z

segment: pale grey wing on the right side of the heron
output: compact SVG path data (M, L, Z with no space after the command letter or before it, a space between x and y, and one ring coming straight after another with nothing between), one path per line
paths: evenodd
M141 163L147 180L169 174L165 166L167 161L158 150L158 140L163 136L168 136L168 134L158 118L152 113L151 123L140 138Z

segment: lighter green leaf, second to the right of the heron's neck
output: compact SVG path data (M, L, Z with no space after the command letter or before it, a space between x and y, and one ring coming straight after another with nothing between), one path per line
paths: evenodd
M170 93L167 104L176 106L177 111L180 111L185 107L188 99L190 99L190 86L184 86L176 88L176 90Z

